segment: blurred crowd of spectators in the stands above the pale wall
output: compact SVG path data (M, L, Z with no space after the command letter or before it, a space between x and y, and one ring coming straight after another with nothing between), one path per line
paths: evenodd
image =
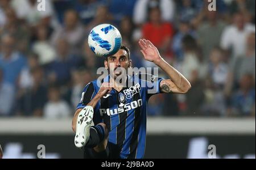
M84 86L103 66L90 30L115 25L134 67L150 40L192 88L155 95L149 116L255 117L255 0L0 1L0 116L72 117ZM160 71L160 70L159 70ZM160 76L167 78L160 71Z

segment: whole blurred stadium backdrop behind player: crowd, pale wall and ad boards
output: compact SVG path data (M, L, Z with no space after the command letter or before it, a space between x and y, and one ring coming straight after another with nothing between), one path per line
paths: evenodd
M138 40L191 82L186 95L155 95L148 104L145 158L255 158L255 1L0 1L0 145L4 158L81 158L71 119L82 88L102 59L87 36L111 23L142 59ZM166 77L163 73L160 76ZM161 143L161 146L159 146Z

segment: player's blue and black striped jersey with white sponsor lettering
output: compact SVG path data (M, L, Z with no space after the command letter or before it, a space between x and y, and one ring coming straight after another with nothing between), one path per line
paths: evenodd
M148 78L148 75L146 75ZM109 130L109 142L117 146L119 158L143 158L146 145L147 101L160 93L162 78L141 74L127 76L126 87L113 90L98 101L94 108L94 125L103 122ZM77 109L84 108L100 90L100 84L109 82L109 76L88 83L82 91Z

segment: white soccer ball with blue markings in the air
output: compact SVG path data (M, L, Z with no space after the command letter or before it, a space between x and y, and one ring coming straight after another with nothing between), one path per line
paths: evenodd
M122 45L122 36L111 24L97 25L90 31L88 44L98 57L108 57L118 52Z

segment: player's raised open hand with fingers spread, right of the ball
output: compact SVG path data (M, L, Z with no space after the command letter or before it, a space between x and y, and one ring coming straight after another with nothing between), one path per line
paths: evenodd
M141 52L147 61L156 62L161 58L158 49L149 40L139 40L139 46L141 46Z

